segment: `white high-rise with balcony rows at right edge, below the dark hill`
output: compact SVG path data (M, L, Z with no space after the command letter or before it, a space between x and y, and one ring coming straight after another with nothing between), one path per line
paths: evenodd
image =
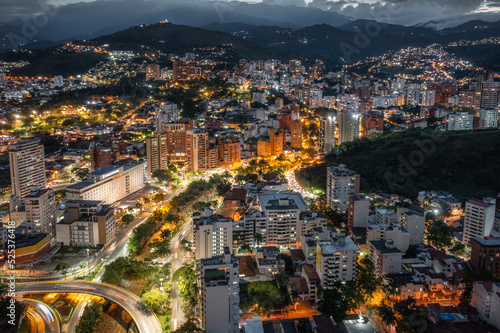
M462 241L468 244L475 237L491 234L495 222L496 200L469 200L465 203L464 232Z

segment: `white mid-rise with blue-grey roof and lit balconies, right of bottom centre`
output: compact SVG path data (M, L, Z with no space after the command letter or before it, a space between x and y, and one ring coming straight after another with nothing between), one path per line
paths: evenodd
M324 288L335 281L356 278L359 247L344 234L336 233L327 241L316 243L316 271Z

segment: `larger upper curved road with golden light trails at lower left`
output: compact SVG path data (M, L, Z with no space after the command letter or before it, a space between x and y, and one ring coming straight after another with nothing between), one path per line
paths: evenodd
M140 333L161 333L162 331L156 315L144 305L139 297L109 284L88 281L17 284L16 293L82 293L101 296L127 311Z

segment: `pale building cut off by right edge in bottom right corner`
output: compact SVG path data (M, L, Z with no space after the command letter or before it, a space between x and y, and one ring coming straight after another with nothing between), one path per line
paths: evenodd
M474 282L472 306L479 319L500 329L500 285L494 282Z

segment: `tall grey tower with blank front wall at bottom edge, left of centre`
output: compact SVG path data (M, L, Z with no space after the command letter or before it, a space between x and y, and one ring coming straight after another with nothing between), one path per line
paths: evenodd
M201 328L206 333L239 333L240 288L238 258L224 254L197 263Z

